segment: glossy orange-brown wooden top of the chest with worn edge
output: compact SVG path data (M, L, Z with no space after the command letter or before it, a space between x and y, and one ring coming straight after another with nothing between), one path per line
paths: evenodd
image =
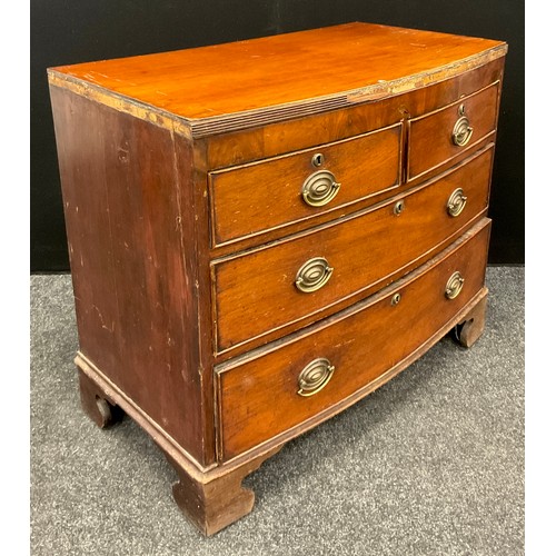
M80 83L189 121L310 103L337 108L429 85L505 54L502 41L347 23L210 47L62 66ZM276 108L275 108L276 109Z

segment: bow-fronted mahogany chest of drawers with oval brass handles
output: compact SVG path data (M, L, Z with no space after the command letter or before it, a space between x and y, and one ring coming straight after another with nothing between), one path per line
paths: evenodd
M349 23L48 71L81 403L206 534L242 479L485 322L506 44Z

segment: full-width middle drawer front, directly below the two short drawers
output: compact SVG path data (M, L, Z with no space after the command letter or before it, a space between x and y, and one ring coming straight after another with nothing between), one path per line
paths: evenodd
M216 261L217 351L309 315L325 316L322 311L338 301L369 288L376 290L388 276L415 268L427 252L485 210L492 158L490 147L398 200L318 231ZM455 192L459 189L465 205L450 216L448 201L456 197L458 203Z

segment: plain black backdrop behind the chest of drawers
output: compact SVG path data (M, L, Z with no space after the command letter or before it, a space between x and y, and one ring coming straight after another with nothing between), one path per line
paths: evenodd
M69 270L48 67L348 21L508 42L490 197L489 262L524 264L524 11L520 0L31 0L31 271Z

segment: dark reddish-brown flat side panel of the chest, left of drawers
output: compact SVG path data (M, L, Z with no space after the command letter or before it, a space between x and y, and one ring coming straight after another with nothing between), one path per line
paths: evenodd
M51 99L80 350L202 463L195 244L171 130L56 87Z

